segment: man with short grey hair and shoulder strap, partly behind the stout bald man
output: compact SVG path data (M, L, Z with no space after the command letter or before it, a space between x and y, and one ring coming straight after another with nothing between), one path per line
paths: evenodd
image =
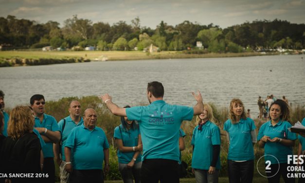
M54 158L59 165L60 183L69 183L69 173L66 171L65 144L71 130L81 126L84 121L81 117L81 106L78 101L72 101L69 107L70 115L58 122L61 132L61 141L53 145ZM61 157L60 155L61 154Z

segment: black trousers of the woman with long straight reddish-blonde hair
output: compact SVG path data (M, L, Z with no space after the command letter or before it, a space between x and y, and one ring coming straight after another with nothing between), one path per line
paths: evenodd
M252 183L254 161L234 162L228 160L228 173L230 183Z

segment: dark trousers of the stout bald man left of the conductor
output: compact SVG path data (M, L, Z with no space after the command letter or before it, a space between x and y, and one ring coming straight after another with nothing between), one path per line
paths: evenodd
M73 170L70 183L104 183L103 170Z

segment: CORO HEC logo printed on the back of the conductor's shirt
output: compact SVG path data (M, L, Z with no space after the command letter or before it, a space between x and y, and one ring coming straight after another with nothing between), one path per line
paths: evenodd
M149 114L150 118L148 122L150 125L173 125L175 119L172 117L172 112L154 111L153 114Z

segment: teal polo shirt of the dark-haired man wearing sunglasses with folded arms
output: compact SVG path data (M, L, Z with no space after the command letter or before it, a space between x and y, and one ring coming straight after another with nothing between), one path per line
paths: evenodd
M40 123L40 119L38 117L35 117L35 125L34 127L39 128L47 128L51 131L59 131L57 122L53 116L50 116L48 114L43 114L43 120L42 123ZM42 134L43 135L43 134ZM44 158L53 158L53 143L48 142L45 146L42 147L43 157Z

